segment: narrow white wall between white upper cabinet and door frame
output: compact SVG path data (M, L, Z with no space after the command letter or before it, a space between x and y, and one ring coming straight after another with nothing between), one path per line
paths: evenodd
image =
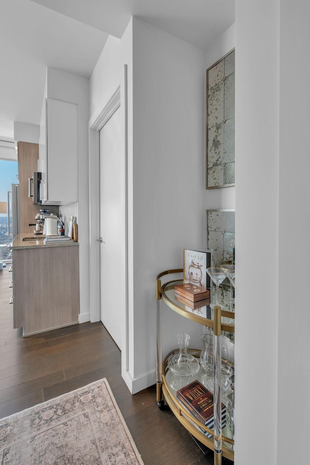
M80 315L89 321L89 195L88 195L88 121L89 79L58 69L47 68L47 95L78 104L78 241ZM61 167L60 167L61 168ZM68 180L70 182L71 180Z

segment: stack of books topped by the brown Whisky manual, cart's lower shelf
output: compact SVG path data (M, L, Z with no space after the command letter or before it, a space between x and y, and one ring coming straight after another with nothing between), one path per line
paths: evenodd
M214 429L214 403L213 394L198 380L193 381L185 387L179 389L176 393L179 402L191 413L198 421L210 429ZM226 424L226 407L222 403L221 424L222 428ZM211 437L193 423L205 436Z

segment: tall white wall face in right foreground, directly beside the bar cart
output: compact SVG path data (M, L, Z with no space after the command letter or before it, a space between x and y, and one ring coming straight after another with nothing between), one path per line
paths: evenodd
M235 463L275 465L278 463L279 0L236 0L235 5ZM293 160L292 153L290 156ZM290 209L286 215L290 215ZM291 235L290 239L294 237ZM291 275L281 287L292 283L292 279ZM279 385L279 389L287 393L286 387ZM286 396L292 408L293 399L292 389ZM292 422L289 416L283 418L281 444L285 454L288 443L294 444L287 425L298 431L298 422ZM295 445L295 449L302 447L299 441ZM279 464L291 462L302 463L286 457Z

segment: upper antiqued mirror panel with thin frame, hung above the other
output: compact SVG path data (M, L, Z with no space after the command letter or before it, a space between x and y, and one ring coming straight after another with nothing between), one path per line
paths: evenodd
M234 50L207 69L207 189L235 182L234 74Z

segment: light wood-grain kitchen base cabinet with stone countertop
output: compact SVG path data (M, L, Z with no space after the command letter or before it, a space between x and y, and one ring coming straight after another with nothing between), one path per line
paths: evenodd
M78 242L17 234L11 248L14 328L30 336L78 323Z

